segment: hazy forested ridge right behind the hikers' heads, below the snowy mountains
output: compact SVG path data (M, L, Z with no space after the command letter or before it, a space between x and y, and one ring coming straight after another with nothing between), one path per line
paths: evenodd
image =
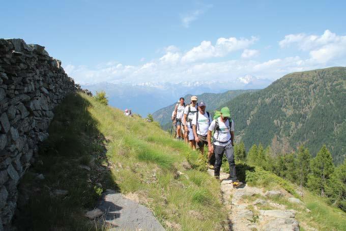
M227 91L224 93L203 93L200 95L197 95L198 102L205 102L207 103L207 111L213 111L216 108L218 108L221 104L224 104L228 102L229 100L249 92L255 92L258 90L235 90L235 91ZM184 96L185 103L190 102L190 98L192 95L186 95ZM178 99L177 99L178 102ZM166 129L167 126L171 125L171 114L174 110L176 103L171 104L167 107L161 108L153 113L153 118L155 121L159 122L163 129Z

